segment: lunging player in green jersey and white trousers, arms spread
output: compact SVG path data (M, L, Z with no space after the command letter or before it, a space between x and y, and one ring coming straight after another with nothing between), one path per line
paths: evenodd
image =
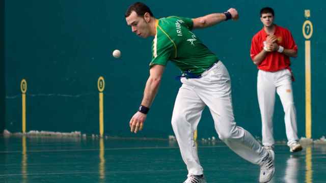
M237 16L237 11L231 8L225 13L194 19L176 16L156 19L142 3L131 5L125 14L133 33L143 38L154 37L150 76L139 111L130 120L131 132L143 129L168 60L183 73L173 109L172 127L187 166L186 183L206 182L194 142L194 131L206 105L220 139L242 158L260 165L260 182L268 182L274 175L274 151L264 149L248 131L236 126L227 69L191 32L194 28L209 27Z

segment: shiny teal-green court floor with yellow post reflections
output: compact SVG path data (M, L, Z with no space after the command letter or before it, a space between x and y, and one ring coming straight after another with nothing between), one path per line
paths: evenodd
M224 143L198 142L198 149L208 183L258 182L259 167ZM270 182L326 182L326 145L275 151ZM183 182L186 173L174 141L0 137L0 182Z

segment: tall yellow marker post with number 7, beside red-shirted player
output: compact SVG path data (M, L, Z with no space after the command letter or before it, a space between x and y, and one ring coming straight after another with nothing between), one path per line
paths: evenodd
M310 10L305 10L305 17L310 17ZM305 41L305 81L306 81L306 138L311 139L311 43L313 26L310 20L306 20L302 26L302 33L307 39Z

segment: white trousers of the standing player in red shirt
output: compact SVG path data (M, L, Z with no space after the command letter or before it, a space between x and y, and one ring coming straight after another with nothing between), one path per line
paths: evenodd
M296 127L296 111L293 102L291 72L283 69L277 72L259 70L257 78L258 103L262 121L262 142L270 146L275 143L273 137L273 114L275 92L280 96L285 113L285 130L287 144L298 140Z

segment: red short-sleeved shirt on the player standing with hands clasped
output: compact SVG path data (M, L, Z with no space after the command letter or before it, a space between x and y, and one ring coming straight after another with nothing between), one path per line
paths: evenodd
M275 33L274 35L277 37L277 44L279 46L283 46L284 49L295 49L297 50L297 46L293 40L293 37L290 31L281 26L275 25ZM250 56L252 59L261 52L264 47L264 42L267 38L267 33L264 28L262 28L252 39ZM265 42L266 44L266 42ZM289 68L290 66L290 57L286 56L283 53L279 53L277 51L268 52L265 59L260 63L257 67L263 71L268 72L276 72L285 68Z

